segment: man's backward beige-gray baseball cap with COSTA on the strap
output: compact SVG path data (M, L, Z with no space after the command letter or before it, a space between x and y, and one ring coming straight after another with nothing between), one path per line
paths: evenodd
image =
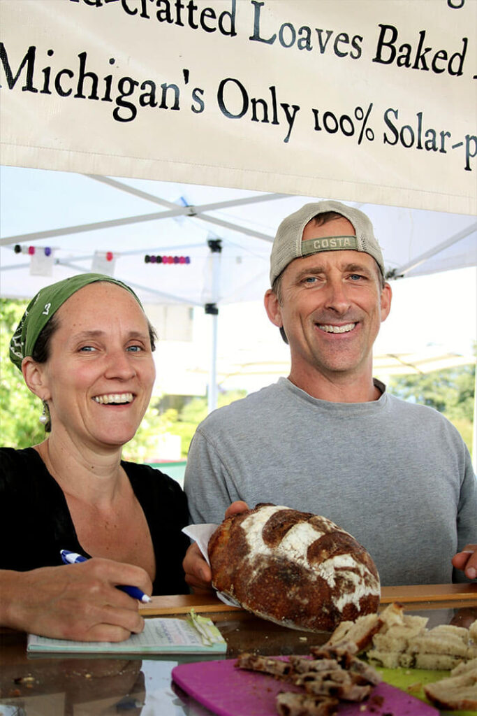
M302 241L303 229L308 221L325 211L335 211L347 218L353 224L355 235L310 238L307 241ZM340 201L326 200L305 204L301 209L283 219L277 229L270 256L270 284L273 285L277 276L280 276L295 258L337 249L369 253L375 259L384 276L383 254L375 238L373 224L365 213L342 204Z

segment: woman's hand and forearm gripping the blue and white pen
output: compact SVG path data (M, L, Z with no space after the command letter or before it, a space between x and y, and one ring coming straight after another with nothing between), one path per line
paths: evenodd
M138 601L118 584L152 592L141 567L99 557L27 572L5 570L1 584L4 626L85 642L122 642L144 629Z

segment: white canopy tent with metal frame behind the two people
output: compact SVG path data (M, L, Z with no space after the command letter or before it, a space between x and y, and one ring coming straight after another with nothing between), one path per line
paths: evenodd
M210 408L217 312L262 298L277 224L314 199L6 167L0 196L1 296L30 298L52 281L98 268L132 286L144 304L204 307L213 324ZM355 205L374 223L390 279L477 263L472 216ZM162 261L171 256L177 263Z

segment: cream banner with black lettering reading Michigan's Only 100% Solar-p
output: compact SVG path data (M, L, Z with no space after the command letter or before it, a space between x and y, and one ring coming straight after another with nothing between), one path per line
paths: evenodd
M0 0L1 162L477 213L476 0Z

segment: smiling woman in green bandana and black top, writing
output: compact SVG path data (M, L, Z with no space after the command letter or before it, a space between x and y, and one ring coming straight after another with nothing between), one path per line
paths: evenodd
M180 486L121 460L149 405L154 332L128 286L83 274L41 289L11 360L51 432L0 451L0 624L49 637L121 641L145 594L183 594L189 541ZM51 423L51 425L50 425ZM92 557L64 566L60 550Z

